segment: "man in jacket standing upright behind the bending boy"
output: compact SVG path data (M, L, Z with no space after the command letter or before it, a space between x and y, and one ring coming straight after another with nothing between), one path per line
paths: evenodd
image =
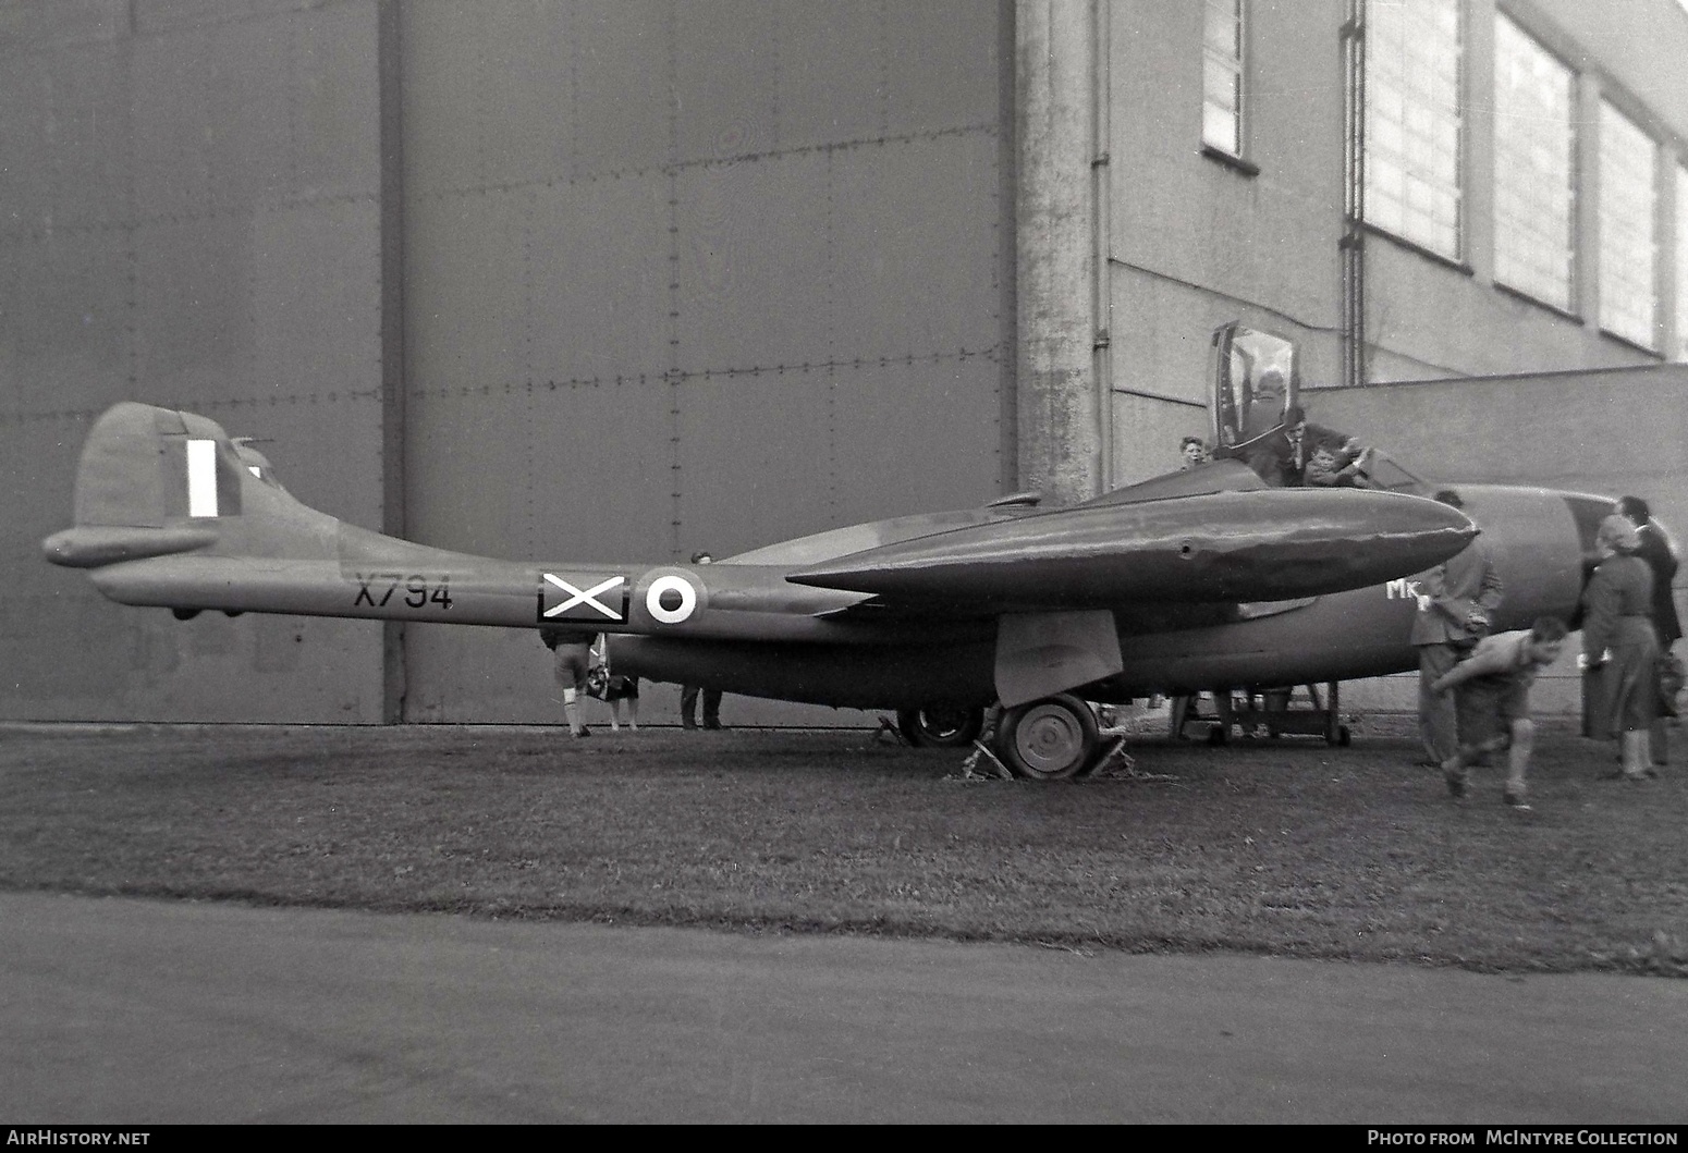
M1460 495L1445 488L1436 500L1463 508ZM1460 746L1453 699L1431 685L1489 635L1506 589L1482 535L1418 577L1418 613L1408 635L1418 650L1418 739L1426 766L1440 766Z

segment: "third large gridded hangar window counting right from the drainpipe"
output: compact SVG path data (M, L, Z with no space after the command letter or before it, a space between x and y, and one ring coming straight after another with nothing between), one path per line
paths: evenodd
M1656 348L1653 138L1600 101L1600 327Z

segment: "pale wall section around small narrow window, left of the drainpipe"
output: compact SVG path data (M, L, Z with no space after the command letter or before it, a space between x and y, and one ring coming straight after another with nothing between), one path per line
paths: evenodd
M1207 432L1209 336L1251 324L1301 341L1332 378L1342 216L1342 3L1252 3L1247 152L1202 154L1202 5L1116 3L1109 245L1114 478L1178 466ZM1198 407L1200 405L1200 407Z

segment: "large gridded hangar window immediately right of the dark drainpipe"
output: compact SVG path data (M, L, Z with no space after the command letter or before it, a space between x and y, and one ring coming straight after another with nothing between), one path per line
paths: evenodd
M1460 5L1377 3L1366 25L1366 223L1460 258Z

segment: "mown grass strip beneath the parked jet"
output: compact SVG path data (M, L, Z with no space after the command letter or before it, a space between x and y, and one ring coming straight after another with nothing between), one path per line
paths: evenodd
M1688 770L1551 726L1533 814L1413 743L960 782L871 733L0 728L0 888L1688 976Z

